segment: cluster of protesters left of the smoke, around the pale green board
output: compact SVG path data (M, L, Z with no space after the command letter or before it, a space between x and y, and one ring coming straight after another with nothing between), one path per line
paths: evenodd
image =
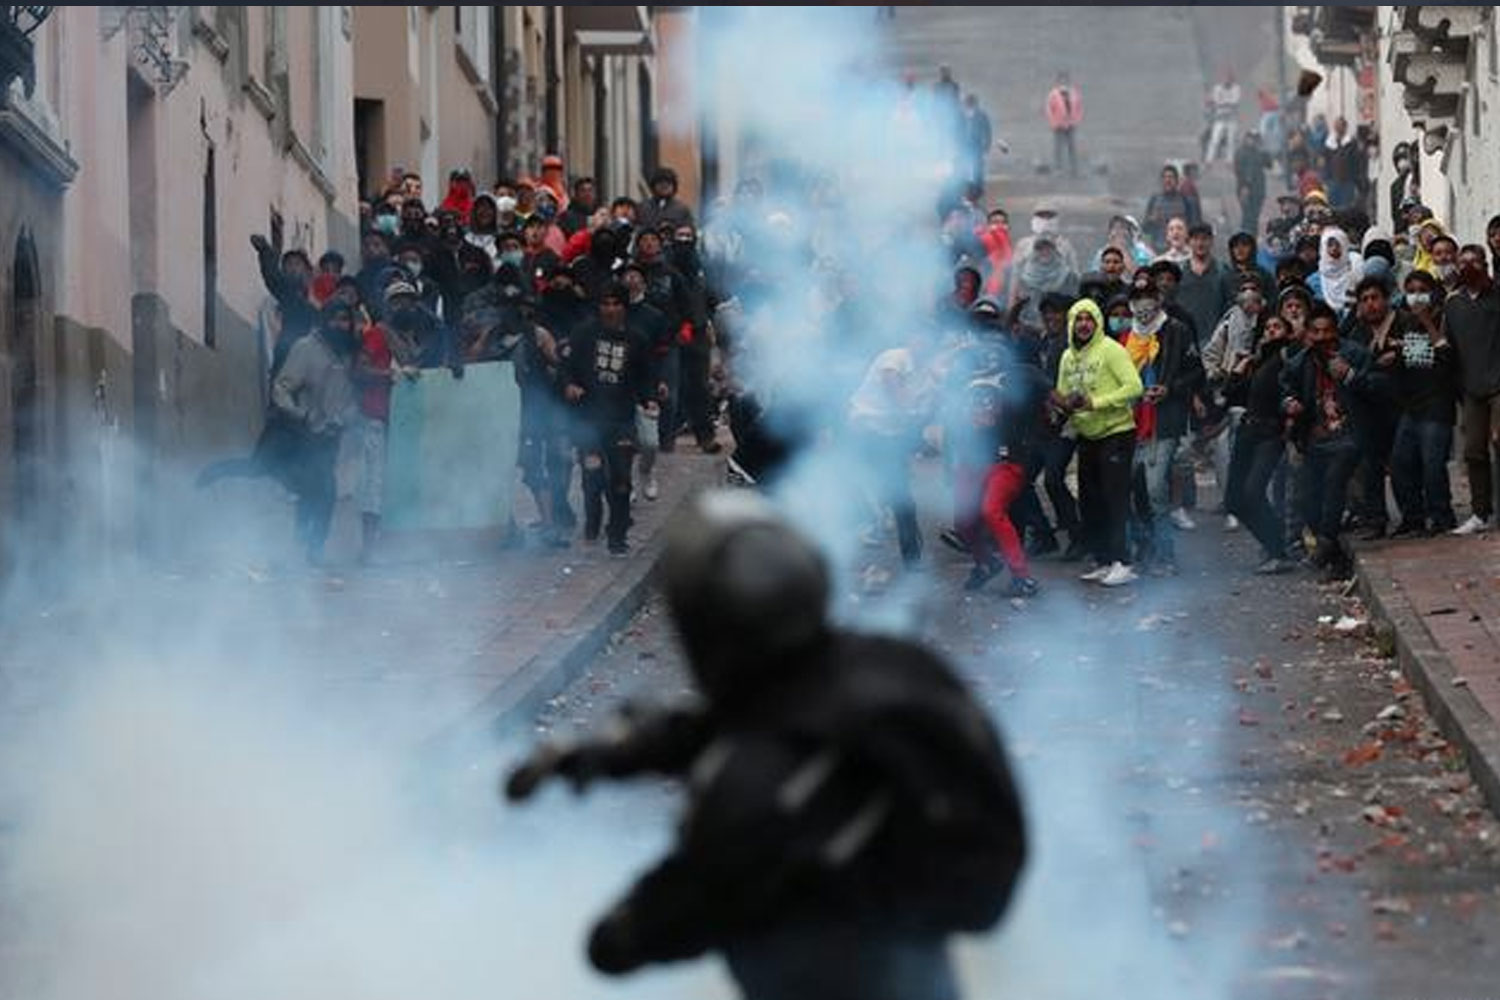
M628 552L630 505L660 493L656 462L681 438L717 453L711 292L676 175L650 198L604 204L590 177L549 156L536 178L477 189L453 171L436 204L398 174L362 205L360 259L252 244L273 300L268 415L249 459L200 481L272 475L297 496L297 538L322 559L340 442L358 442L362 559L381 538L392 390L423 370L512 361L520 393L520 478L536 537L582 529ZM496 427L496 433L502 432ZM574 468L582 517L574 510ZM639 489L638 489L639 486Z

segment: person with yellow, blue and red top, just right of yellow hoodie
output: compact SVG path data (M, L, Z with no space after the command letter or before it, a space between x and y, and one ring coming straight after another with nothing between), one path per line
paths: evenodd
M1178 447L1188 433L1192 397L1203 384L1203 364L1192 333L1167 315L1161 294L1146 274L1131 286L1130 312L1131 327L1122 345L1143 385L1143 396L1136 403L1132 463L1137 562L1152 576L1174 576L1172 471Z

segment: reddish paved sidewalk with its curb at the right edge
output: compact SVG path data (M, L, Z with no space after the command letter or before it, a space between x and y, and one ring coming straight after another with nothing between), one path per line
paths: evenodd
M1500 535L1360 546L1356 576L1438 726L1500 808Z

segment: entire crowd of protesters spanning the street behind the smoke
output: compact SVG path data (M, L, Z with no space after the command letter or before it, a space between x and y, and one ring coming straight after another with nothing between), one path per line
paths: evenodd
M1404 198L1384 229L1299 177L1264 225L1246 205L1244 228L1224 234L1204 220L1196 177L1168 163L1142 222L1116 216L1082 256L1054 207L1038 205L1016 238L1006 210L986 204L990 126L951 78L926 106L958 136L936 241L861 249L878 259L936 243L950 255L951 286L909 330L878 321L882 289L826 240L852 208L837 180L798 171L741 181L704 231L670 169L651 175L646 201L604 204L549 157L537 180L483 193L456 171L435 207L417 177L393 180L366 205L352 271L338 255L314 267L256 240L280 331L250 465L298 495L316 559L338 441L357 432L369 552L394 381L506 358L522 394L522 481L555 546L579 529L576 468L582 538L627 552L633 499L658 496L657 454L684 436L718 450L720 396L736 480L768 484L806 448L844 442L868 469L849 487L867 543L892 526L908 565L924 555L912 459L940 453L952 522L939 535L972 559L972 589L1008 571L1010 592L1029 597L1030 562L1053 555L1090 561L1083 579L1104 586L1174 574L1174 532L1197 528L1200 466L1222 526L1258 543L1263 574L1299 562L1347 574L1352 532L1490 528L1500 217L1486 244L1460 243ZM978 133L984 150L963 138ZM1238 180L1251 166L1274 162L1238 157ZM838 345L819 406L736 370L758 342L784 349L798 327ZM1448 474L1460 412L1462 523Z

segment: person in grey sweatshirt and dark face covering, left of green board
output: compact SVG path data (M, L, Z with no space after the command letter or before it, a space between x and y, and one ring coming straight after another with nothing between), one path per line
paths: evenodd
M321 565L333 520L333 465L339 436L354 415L350 360L357 345L354 310L328 303L315 336L292 345L272 382L272 405L297 429L286 486L297 495L297 540L310 565Z

